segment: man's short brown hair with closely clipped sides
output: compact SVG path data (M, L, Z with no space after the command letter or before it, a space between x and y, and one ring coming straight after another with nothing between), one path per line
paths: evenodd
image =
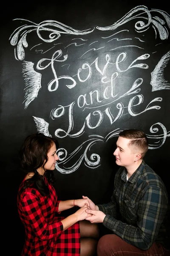
M120 137L130 139L128 146L134 150L141 151L141 158L143 158L148 150L147 136L143 131L136 129L127 129L119 133Z

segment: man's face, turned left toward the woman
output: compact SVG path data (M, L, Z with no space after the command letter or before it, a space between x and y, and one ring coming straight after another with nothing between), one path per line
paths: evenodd
M116 164L119 166L125 166L126 168L132 166L135 159L135 154L132 153L128 146L129 142L130 139L119 137L116 142L117 148L113 153L116 157Z

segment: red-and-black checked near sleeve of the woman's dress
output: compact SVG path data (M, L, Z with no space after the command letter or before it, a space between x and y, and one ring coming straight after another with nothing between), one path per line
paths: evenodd
M33 195L25 195L22 201L22 209L25 218L29 221L32 230L40 240L52 239L63 231L61 221L48 224L42 215L37 199Z

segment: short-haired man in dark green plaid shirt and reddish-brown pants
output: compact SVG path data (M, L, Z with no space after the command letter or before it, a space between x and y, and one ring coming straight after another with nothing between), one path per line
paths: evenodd
M143 160L148 150L146 134L135 129L122 131L116 145L113 154L122 167L115 175L111 202L95 205L83 196L91 207L87 219L113 231L99 239L97 255L169 256L163 224L168 196L161 178Z

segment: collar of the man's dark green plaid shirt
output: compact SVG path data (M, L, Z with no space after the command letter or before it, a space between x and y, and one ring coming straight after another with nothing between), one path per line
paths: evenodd
M128 179L130 183L136 183L136 181L140 178L142 174L144 166L145 166L145 162L144 160L142 160L142 163L139 165L138 169L136 169L133 175ZM127 182L126 175L127 175L127 169L124 167L123 172L121 174L121 179L124 180L125 182Z

